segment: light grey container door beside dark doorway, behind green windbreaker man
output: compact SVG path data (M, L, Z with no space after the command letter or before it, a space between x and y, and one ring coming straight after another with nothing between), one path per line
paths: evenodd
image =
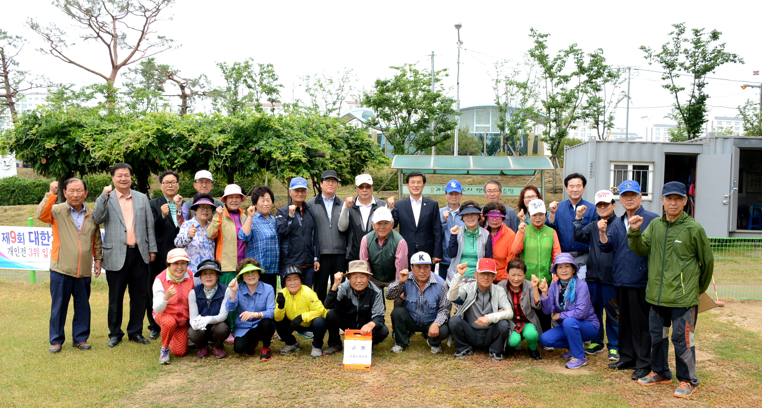
M696 221L707 237L728 237L730 231L732 158L729 153L705 154L696 161Z

